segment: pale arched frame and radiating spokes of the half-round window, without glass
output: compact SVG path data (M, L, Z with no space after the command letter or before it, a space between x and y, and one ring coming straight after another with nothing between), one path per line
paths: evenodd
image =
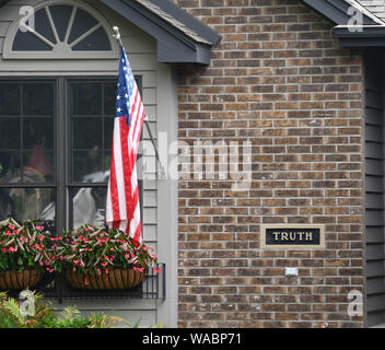
M98 22L97 27L94 27L94 31L96 31L100 27L103 27L104 31L106 32L112 49L108 51L103 51L103 50L72 51L72 50L68 49L68 47L66 47L67 44L60 42L59 36L57 34L57 31L55 28L55 25L54 25L51 19L48 16L48 19L50 20L54 35L55 35L56 40L58 43L54 46L54 49L51 51L14 51L14 50L12 50L13 40L15 38L15 35L19 32L21 21L22 20L25 21L24 15L20 15L11 24L11 26L9 27L9 30L7 32L4 44L3 44L3 51L2 51L3 59L61 59L61 60L62 59L88 59L88 60L90 60L90 59L118 59L119 48L118 48L117 42L114 39L114 36L113 36L114 33L110 28L110 25L104 19L104 16L102 14L100 14L94 8L92 8L85 3L81 3L79 1L68 1L68 0L54 1L54 0L50 0L50 1L44 1L44 2L40 2L36 5L34 5L34 10L35 10L35 12L37 12L38 10L42 10L42 9L47 8L49 5L70 5L70 7L81 9L81 10L88 12L90 15L92 15ZM66 35L66 39L68 39L72 24L73 24L73 16L70 20L68 33ZM88 32L85 34L92 34L92 33ZM85 34L82 35L80 37L80 39L77 39L75 42L73 42L71 45L73 46L78 42L81 42L82 38L85 38L88 36ZM45 43L47 43L47 42L45 42Z

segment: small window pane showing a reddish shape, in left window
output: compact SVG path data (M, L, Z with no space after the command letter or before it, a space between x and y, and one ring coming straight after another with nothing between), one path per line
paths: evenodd
M23 183L44 184L54 180L54 152L36 147L32 152L23 153Z

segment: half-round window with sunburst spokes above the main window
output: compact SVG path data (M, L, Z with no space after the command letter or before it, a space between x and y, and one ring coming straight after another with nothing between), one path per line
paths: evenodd
M93 9L73 2L45 2L20 16L4 40L5 59L117 58L109 25Z

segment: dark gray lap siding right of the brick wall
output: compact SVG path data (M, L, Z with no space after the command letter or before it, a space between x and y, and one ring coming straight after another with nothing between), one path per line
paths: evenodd
M385 322L384 90L381 61L365 61L365 236L368 326Z

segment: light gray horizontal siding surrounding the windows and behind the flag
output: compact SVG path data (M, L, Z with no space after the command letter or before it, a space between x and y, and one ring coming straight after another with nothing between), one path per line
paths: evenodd
M19 15L21 5L33 5L34 0L14 0L0 11L0 77L115 77L118 71L117 60L3 60L2 49L3 42L10 25ZM127 55L132 67L133 73L142 77L142 91L145 112L149 117L152 133L156 136L156 43L140 28L131 25L124 18L106 8L100 1L84 1L95 8L108 22L110 26L118 25L122 37ZM143 127L143 140L150 141L149 132ZM152 152L152 150L151 150ZM147 158L147 164L154 164L153 153ZM158 247L158 183L154 180L154 174L147 174L143 182L143 237L144 242ZM158 253L158 252L156 252ZM149 326L156 323L158 312L156 303L149 301L98 301L82 302L68 301L65 304L55 305L63 308L68 305L77 305L85 314L97 311L114 311L130 323L136 323L142 317L141 326Z

